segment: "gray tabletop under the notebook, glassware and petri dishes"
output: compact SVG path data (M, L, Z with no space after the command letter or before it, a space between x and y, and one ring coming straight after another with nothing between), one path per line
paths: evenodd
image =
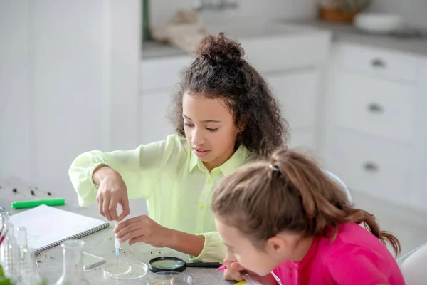
M18 186L16 186L18 185ZM24 211L26 209L11 209L11 202L19 200L30 200L30 199L52 199L53 196L48 196L47 193L36 190L36 196L32 196L28 190L28 186L22 185L19 182L9 182L0 180L0 206L6 207L6 210L9 214L16 214L18 212ZM18 192L14 193L12 189L14 187L18 188ZM76 201L70 201L67 199L65 206L58 207L59 209L65 209L70 212L76 212L78 214L83 214L88 217L94 217L97 219L105 219L97 212L96 205L93 207L79 207ZM85 241L85 246L83 248L84 252L90 254L95 254L98 257L103 257L107 264L116 261L115 249L114 249L114 240L111 239L113 236L112 229L114 227L113 223L110 223L110 227L102 229L99 232L90 234L87 237L83 237ZM42 255L46 254L49 257L53 258L43 258L39 263L39 270L41 271L42 276L46 277L49 281L49 285L54 284L60 278L62 274L62 250L61 247L54 247L53 249L48 249L45 252L39 254L36 259L40 260ZM148 244L132 244L129 246L127 243L122 244L122 251L120 259L122 261L137 260L142 261L148 265L150 259L154 257L161 256L173 256L179 257L188 261L186 254L176 252L172 249L157 249L151 247ZM97 269L85 272L85 278L90 281L91 284L145 284L147 277L152 274L151 271L148 272L147 276L142 277L141 279L136 280L125 280L125 281L116 281L105 277L103 274L102 267L107 265L102 264ZM193 284L196 285L211 285L211 284L233 284L233 282L227 282L223 280L223 275L221 272L217 272L216 269L202 269L202 268L187 268L184 271L185 274L188 274L193 279Z

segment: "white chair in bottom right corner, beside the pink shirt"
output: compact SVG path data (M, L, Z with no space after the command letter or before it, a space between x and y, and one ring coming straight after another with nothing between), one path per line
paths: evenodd
M427 284L427 243L413 249L396 260L406 285Z

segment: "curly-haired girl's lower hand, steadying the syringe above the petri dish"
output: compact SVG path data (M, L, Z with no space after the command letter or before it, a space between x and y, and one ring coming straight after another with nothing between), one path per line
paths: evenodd
M168 231L169 229L157 224L147 215L127 219L120 222L114 229L114 233L120 242L129 241L130 245L136 242L144 242L153 247L168 247Z

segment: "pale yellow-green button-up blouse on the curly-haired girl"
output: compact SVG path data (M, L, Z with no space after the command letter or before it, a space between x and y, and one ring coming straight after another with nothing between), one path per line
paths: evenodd
M256 157L241 146L223 165L209 172L185 138L169 135L167 140L135 150L85 152L73 161L69 175L80 206L88 206L96 200L93 172L100 165L112 167L125 180L130 199L147 199L149 217L155 222L205 237L201 254L190 257L191 261L222 261L226 247L216 232L210 209L212 193L221 178Z

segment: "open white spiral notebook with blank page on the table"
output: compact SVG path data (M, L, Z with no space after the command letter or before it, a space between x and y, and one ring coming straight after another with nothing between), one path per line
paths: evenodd
M46 205L14 214L10 219L14 227L26 227L28 247L35 249L36 254L66 239L80 239L110 226L100 219Z

